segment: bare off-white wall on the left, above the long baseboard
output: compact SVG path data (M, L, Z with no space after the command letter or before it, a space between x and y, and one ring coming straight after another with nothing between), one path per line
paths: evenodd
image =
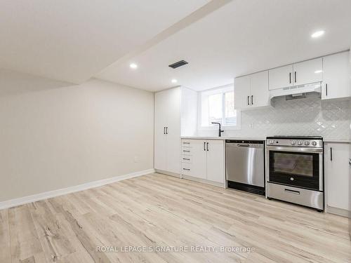
M36 90L35 78L11 93L11 78L0 79L0 201L153 168L152 93L97 79Z

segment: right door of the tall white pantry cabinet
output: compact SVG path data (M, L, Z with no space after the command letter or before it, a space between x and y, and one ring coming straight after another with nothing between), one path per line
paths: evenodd
M180 173L180 88L166 90L166 170Z

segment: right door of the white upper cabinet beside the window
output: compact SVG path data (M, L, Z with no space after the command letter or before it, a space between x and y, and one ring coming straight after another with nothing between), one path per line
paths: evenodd
M263 107L270 105L270 90L268 90L268 71L251 74L251 105Z

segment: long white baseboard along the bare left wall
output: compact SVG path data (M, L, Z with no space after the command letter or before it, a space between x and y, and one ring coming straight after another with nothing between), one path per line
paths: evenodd
M75 185L74 187L67 187L67 188L57 189L57 190L53 190L53 191L46 191L46 192L40 193L40 194L33 194L31 196L24 196L24 197L20 197L20 198L15 198L15 199L11 199L8 201L0 202L0 210L5 209L5 208L12 208L12 207L17 206L17 205L24 205L26 203L32 203L35 201L44 200L47 198L52 198L55 196L62 196L65 194L71 194L71 193L74 193L76 191L83 191L86 189L101 187L102 185L105 185L105 184L112 184L113 182L118 182L121 180L126 180L129 178L138 177L141 175L147 175L149 173L154 173L154 169L142 170L142 171L135 172L135 173L128 173L127 175L119 175L119 176L107 178L104 180L87 182L85 184Z

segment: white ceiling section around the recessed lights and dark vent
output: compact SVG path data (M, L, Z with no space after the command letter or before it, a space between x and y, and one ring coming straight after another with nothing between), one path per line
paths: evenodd
M318 29L326 34L311 39ZM146 90L170 88L171 79L178 79L179 85L204 90L350 46L350 0L234 0L95 76ZM189 65L168 67L183 59ZM130 69L130 62L138 69Z

